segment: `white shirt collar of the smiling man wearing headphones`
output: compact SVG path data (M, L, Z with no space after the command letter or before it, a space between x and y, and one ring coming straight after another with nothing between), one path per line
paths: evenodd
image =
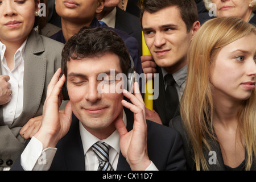
M125 126L126 126L127 121L126 121L126 114L124 110L123 110L123 122L125 123ZM82 126L81 122L79 122L79 130L80 130L80 135L82 140L82 147L84 148L84 155L87 153L89 148L92 147L93 144L98 141L105 142L109 146L114 148L115 151L117 151L118 153L120 152L120 146L119 146L120 137L117 130L115 130L108 138L104 140L100 140L94 135L92 135L91 133L89 133L89 131L87 131Z

